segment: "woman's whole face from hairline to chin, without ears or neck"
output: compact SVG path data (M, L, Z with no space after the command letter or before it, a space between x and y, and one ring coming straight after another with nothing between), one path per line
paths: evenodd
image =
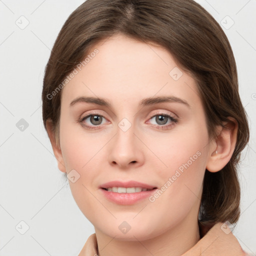
M187 227L210 155L194 79L164 48L121 34L94 49L61 95L60 169L78 207L96 231L119 239Z

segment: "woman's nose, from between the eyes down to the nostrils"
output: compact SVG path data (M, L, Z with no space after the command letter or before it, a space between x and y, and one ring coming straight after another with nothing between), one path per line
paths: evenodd
M142 142L138 138L139 135L135 134L137 132L133 124L127 130L124 128L127 123L122 124L121 122L119 123L116 128L116 134L109 143L109 163L118 165L122 169L138 167L144 161Z

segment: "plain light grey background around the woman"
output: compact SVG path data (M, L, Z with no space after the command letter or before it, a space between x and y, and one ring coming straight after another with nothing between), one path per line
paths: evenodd
M57 168L40 99L50 49L82 2L0 0L0 255L78 255L94 232ZM222 24L237 63L251 137L241 157L242 214L233 233L256 255L256 0L197 2ZM23 131L16 126L21 118L28 123ZM20 221L29 226L24 234Z

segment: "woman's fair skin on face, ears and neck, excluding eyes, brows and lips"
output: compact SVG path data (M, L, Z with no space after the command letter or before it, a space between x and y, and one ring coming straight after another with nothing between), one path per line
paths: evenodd
M169 75L178 65L166 49L122 34L94 48L98 54L62 89L60 145L47 122L58 168L67 173L75 169L80 175L69 185L78 207L95 227L100 256L181 255L200 238L197 217L205 169L215 172L229 161L237 123L230 118L225 124L231 129L217 126L219 135L209 140L196 83L183 70L178 80ZM179 102L138 105L145 97L166 95L182 98L190 107ZM111 106L69 105L81 96L104 97ZM91 110L103 116L102 122L95 125L87 118L83 123L97 129L77 122ZM177 118L178 123L168 119L159 124L161 114ZM118 127L124 117L131 123L125 132ZM200 156L153 202L146 198L119 205L98 188L111 180L136 180L161 188L198 151ZM118 228L123 221L131 227L127 233Z

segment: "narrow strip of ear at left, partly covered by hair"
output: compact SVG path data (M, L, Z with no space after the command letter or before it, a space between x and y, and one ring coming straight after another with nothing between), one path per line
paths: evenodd
M53 153L55 155L55 158L57 160L58 163L58 168L60 171L66 172L66 168L65 168L65 164L64 164L64 160L63 160L63 156L62 156L62 152L60 149L60 145L58 145L56 143L56 139L55 139L55 134L53 132L52 129L52 122L50 120L46 120L46 130L50 139L50 143L53 149Z

